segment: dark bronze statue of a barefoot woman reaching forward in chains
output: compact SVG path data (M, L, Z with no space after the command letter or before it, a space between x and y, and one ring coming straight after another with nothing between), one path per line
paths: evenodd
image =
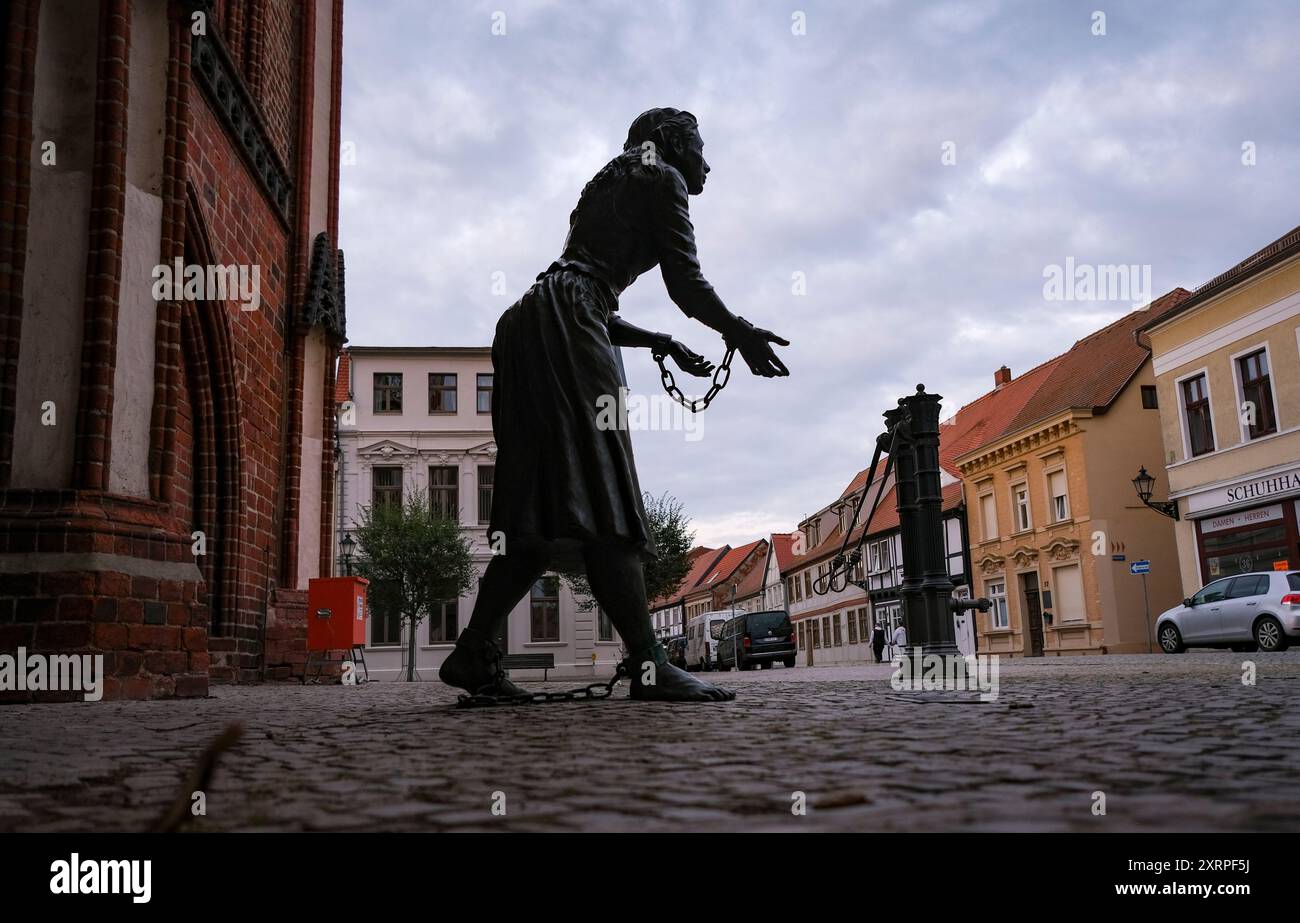
M696 117L650 109L623 153L582 190L564 252L497 324L491 419L497 480L489 534L504 536L478 586L469 625L438 671L471 693L521 690L498 667L500 620L550 567L586 571L592 594L629 651L632 698L722 701L734 693L677 670L654 638L642 556L656 554L625 428L598 425L624 385L615 347L650 347L686 373L712 367L667 334L618 315L619 294L656 264L668 295L719 332L754 374L789 374L771 343L789 343L732 315L699 270L688 195L708 164ZM601 398L604 398L602 402ZM654 671L641 668L653 660ZM644 679L653 675L653 682Z

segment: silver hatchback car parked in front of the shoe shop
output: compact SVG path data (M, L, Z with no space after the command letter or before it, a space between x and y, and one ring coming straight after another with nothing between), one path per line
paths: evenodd
M1166 654L1188 647L1280 651L1300 641L1300 571L1239 573L1206 584L1156 620Z

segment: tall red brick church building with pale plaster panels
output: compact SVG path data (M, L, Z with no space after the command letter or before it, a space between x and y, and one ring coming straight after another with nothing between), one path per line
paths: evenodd
M8 0L0 40L0 654L101 653L117 698L300 671L342 0Z

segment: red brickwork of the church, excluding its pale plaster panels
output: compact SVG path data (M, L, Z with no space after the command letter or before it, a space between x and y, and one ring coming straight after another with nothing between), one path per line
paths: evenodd
M30 150L35 4L0 13L5 69L0 112L0 250L21 254L26 208L22 157ZM13 368L22 320L21 274L0 278L0 651L103 654L105 698L205 696L209 681L300 676L306 593L285 573L292 547L286 507L299 459L299 324L311 239L266 198L238 139L190 72L188 13L169 5L164 233L159 260L256 265L257 311L203 302L159 306L151 497L104 493L110 464L113 360L121 254L129 0L100 5L99 88L86 338L77 421L75 480L64 490L6 482L13 433ZM228 43L266 134L291 173L303 133L309 20L290 0L220 0L211 26ZM229 27L229 34L225 31ZM26 95L25 95L26 94ZM116 113L116 114L114 114ZM337 134L337 133L335 133ZM22 156L17 156L17 155ZM329 157L329 152L320 156ZM298 169L295 169L298 168ZM309 179L291 176L295 195ZM300 212L290 199L290 216ZM334 204L332 203L332 214ZM20 226L21 225L21 226ZM114 230L114 228L117 230ZM21 260L12 264L21 270ZM22 330L26 335L39 332ZM311 387L333 387L326 381ZM325 446L326 456L332 446ZM326 481L329 485L330 481ZM204 532L207 554L191 552ZM322 533L328 529L322 526ZM144 576L153 575L153 576ZM166 575L166 576L157 576ZM332 668L337 675L337 663ZM9 698L30 693L9 694ZM39 694L38 698L58 698ZM79 698L79 694L73 696ZM0 698L0 701L5 701Z

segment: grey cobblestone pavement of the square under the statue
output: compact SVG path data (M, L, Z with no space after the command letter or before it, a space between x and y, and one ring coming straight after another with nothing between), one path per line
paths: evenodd
M991 703L889 673L729 673L715 705L464 711L424 682L8 706L0 829L144 829L230 722L190 829L1300 829L1300 651L1004 660Z

